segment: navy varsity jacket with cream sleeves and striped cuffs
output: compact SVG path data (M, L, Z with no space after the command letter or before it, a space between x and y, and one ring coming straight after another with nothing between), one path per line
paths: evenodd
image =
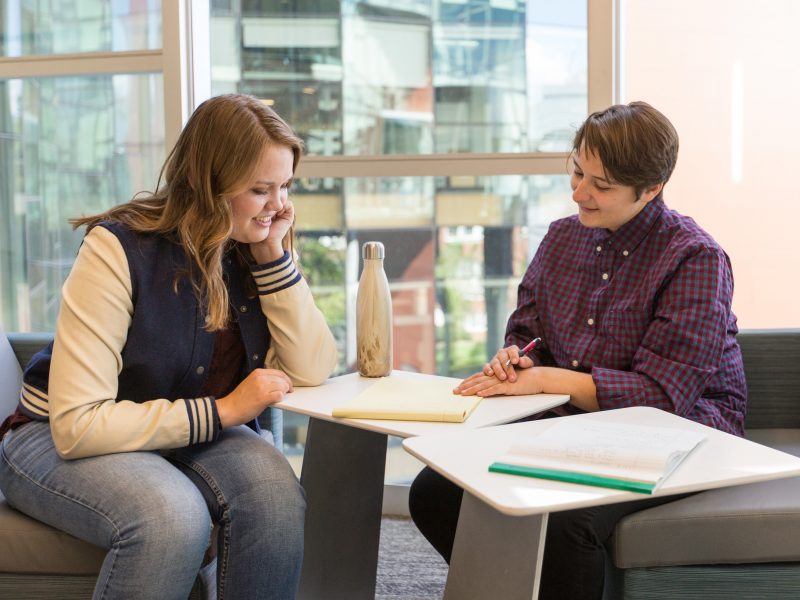
M54 342L31 360L20 396L24 414L50 420L63 458L219 437L216 399L201 395L215 334L204 328L191 283L176 279L186 267L167 236L106 222L84 238ZM289 253L250 267L257 297L245 291L246 267L226 256L223 270L247 357L243 377L266 366L294 385L322 383L336 363L335 342Z

